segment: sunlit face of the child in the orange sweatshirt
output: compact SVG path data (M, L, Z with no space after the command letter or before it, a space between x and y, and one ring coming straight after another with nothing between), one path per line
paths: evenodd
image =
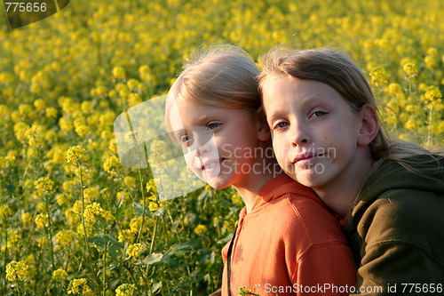
M170 123L186 164L212 188L246 187L254 178L258 121L250 111L177 100Z

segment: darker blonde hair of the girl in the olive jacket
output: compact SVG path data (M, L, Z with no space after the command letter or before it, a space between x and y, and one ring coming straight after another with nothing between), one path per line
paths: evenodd
M366 104L377 110L375 97L366 76L354 61L342 52L329 48L287 50L275 47L266 54L261 66L262 72L258 76L261 93L267 77L283 74L328 84L341 94L354 112L359 112ZM374 161L400 161L414 154L430 153L406 141L388 140L381 125L369 148Z

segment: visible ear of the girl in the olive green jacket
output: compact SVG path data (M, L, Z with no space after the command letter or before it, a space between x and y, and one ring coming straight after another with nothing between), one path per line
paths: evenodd
M361 127L358 135L358 145L368 146L377 137L379 119L377 111L369 104L365 104L359 113Z

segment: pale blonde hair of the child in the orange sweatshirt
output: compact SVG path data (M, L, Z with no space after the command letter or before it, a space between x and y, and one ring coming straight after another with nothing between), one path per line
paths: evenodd
M259 72L250 55L233 45L195 51L168 92L165 106L168 131L171 131L170 108L174 101L180 100L216 108L243 108L260 116Z

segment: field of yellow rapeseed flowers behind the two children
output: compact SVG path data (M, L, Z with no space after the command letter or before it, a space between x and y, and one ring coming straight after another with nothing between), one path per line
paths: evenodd
M200 45L255 59L276 44L340 49L363 68L385 130L444 147L440 0L75 0L10 29L0 9L0 294L208 295L242 199L159 199L124 167L114 121L168 92Z

